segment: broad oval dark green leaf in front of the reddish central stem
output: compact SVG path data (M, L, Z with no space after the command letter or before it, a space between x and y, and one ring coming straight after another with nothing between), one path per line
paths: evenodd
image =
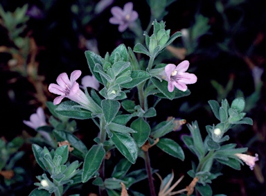
M134 140L136 141L136 145L141 148L141 146L147 141L150 136L150 125L143 118L137 118L133 121L130 127L136 131L136 133L132 133Z

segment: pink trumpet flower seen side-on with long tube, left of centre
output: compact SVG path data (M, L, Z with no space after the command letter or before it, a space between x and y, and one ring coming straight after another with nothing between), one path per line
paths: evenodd
M67 73L61 73L56 79L57 84L49 85L48 91L60 95L53 100L54 105L60 104L63 98L69 98L70 100L82 105L86 109L89 109L89 100L85 93L80 90L78 82L76 82L76 80L80 78L80 75L80 70L73 71L69 80Z

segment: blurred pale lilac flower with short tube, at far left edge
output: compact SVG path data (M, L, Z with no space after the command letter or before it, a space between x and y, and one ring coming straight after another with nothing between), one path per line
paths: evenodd
M37 130L38 127L47 125L45 120L44 109L42 109L42 107L38 107L37 112L30 115L30 121L23 121L23 123L28 127L33 128L33 130ZM51 136L47 132L41 130L38 132L48 141L52 141Z

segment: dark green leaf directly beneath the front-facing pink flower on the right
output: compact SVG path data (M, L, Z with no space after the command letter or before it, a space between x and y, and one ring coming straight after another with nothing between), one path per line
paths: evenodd
M168 82L166 82L165 80L160 81L157 78L151 78L151 80L154 86L157 87L157 89L159 89L159 91L161 91L162 93L155 94L155 96L158 96L159 98L168 98L170 100L173 100L175 98L181 98L190 95L189 89L187 89L186 91L180 91L179 89L175 88L174 91L169 92Z

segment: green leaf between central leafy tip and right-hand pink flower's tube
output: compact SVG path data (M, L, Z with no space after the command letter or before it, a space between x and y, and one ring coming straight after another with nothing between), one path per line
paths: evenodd
M132 81L127 82L125 84L121 84L121 87L127 88L127 89L131 89L133 87L136 87L136 85L140 84L141 82L148 80L150 78L150 74L146 71L133 70L131 72L130 77L132 78Z

